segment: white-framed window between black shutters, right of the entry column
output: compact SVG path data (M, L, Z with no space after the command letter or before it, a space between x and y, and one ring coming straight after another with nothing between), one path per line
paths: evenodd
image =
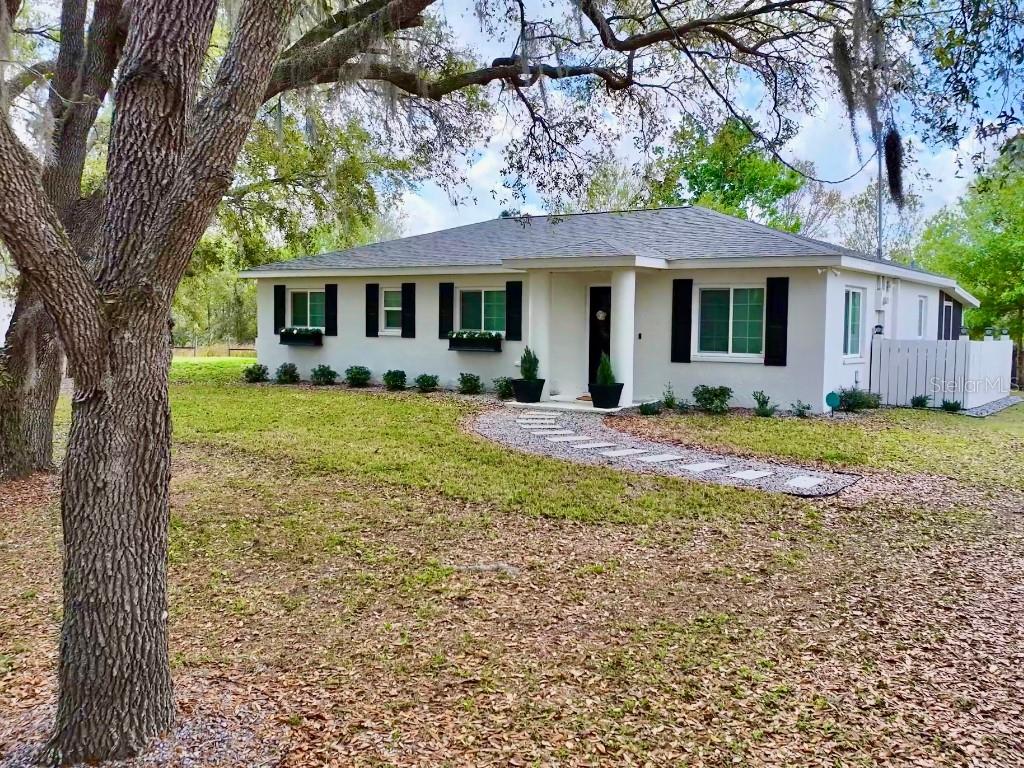
M764 353L763 287L701 288L697 312L698 352L736 355Z

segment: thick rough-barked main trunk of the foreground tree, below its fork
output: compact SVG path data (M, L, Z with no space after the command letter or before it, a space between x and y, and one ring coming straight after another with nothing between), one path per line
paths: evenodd
M76 390L63 464L59 698L49 758L138 754L173 718L167 643L169 316L137 309Z

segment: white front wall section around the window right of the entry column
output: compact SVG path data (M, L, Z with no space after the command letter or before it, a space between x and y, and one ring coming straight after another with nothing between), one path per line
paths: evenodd
M790 278L788 338L785 366L765 366L761 359L716 358L697 351L698 291L703 287L764 286L767 278ZM693 279L690 362L672 362L672 281ZM788 408L797 399L824 407L822 349L824 346L825 278L810 267L788 269L679 269L641 272L637 278L635 398L656 399L672 383L676 395L692 401L698 384L732 388L731 404L752 408L751 394L764 390L774 402ZM841 297L842 299L842 297ZM842 301L840 322L842 322ZM614 312L614 307L612 307Z

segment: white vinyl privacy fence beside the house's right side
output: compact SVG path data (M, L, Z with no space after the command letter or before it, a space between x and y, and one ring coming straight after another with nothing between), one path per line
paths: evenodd
M909 406L924 394L930 406L958 400L977 408L1010 394L1010 341L929 341L871 338L870 390L886 406Z

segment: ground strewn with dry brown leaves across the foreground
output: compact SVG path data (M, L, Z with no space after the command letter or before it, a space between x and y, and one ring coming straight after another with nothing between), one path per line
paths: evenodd
M175 462L180 725L133 765L1021 764L1018 492L868 475L770 519L582 524ZM0 486L2 766L52 712L55 493Z

